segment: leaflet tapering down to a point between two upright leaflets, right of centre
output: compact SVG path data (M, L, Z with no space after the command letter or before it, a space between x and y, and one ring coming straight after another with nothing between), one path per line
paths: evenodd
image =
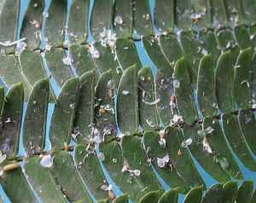
M193 32L181 32L180 35L185 60L188 61L189 64L188 71L191 78L191 83L195 88L199 63L206 50L201 49L201 44L199 44L199 41Z

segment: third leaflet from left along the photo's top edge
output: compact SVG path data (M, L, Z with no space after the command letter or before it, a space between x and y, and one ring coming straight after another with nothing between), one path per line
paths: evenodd
M67 15L67 0L51 1L48 14L44 14L44 36L46 43L52 47L60 47L65 37L65 23Z

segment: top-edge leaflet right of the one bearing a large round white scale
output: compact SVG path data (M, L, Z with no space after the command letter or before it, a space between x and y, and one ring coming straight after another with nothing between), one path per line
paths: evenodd
M133 29L138 36L153 34L148 0L134 0L133 3Z

